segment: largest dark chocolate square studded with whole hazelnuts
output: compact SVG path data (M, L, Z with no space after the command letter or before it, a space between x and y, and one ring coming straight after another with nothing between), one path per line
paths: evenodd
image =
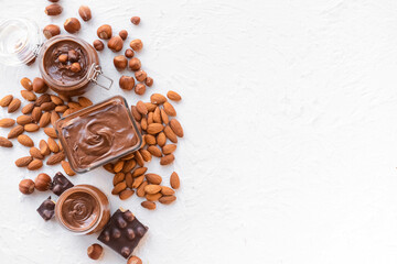
M147 231L148 227L138 221L130 210L118 209L99 234L98 240L127 258Z

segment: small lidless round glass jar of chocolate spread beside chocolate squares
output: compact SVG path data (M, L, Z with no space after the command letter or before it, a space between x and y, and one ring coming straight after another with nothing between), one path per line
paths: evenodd
M75 234L92 234L103 230L109 221L109 200L95 186L76 185L60 196L55 218Z

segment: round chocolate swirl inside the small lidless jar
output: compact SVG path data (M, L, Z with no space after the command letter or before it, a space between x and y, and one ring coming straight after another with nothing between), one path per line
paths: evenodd
M98 201L89 194L74 193L62 206L62 217L74 229L86 229L95 223L99 215Z

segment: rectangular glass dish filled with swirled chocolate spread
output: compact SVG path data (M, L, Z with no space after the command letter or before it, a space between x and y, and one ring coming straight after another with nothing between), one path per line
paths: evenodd
M86 173L116 161L142 144L142 135L121 96L60 119L55 130L76 173Z

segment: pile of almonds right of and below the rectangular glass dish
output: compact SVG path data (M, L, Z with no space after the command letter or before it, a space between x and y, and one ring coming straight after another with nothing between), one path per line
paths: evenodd
M181 96L175 91L169 91L167 96L170 100L181 100ZM175 160L173 152L176 150L178 138L183 138L183 129L175 119L174 107L160 94L153 94L150 102L138 101L137 106L131 107L131 112L143 135L142 146L115 164L109 163L104 167L115 174L111 191L114 195L125 200L136 191L138 197L147 199L141 206L153 210L154 201L169 205L176 199L174 189L180 187L180 178L174 172L170 177L172 188L162 186L160 175L147 174L144 162L151 162L154 156L160 158L161 165L171 164Z

